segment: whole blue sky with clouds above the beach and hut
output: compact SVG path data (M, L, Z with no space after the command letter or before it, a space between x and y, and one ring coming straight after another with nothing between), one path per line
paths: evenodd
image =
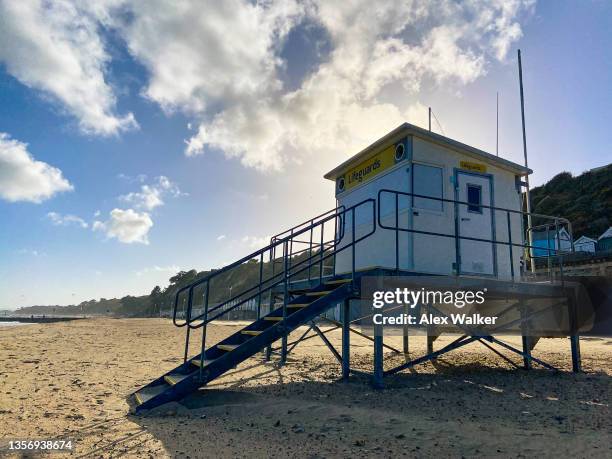
M612 3L0 0L0 309L146 294L333 208L404 121L612 160Z

